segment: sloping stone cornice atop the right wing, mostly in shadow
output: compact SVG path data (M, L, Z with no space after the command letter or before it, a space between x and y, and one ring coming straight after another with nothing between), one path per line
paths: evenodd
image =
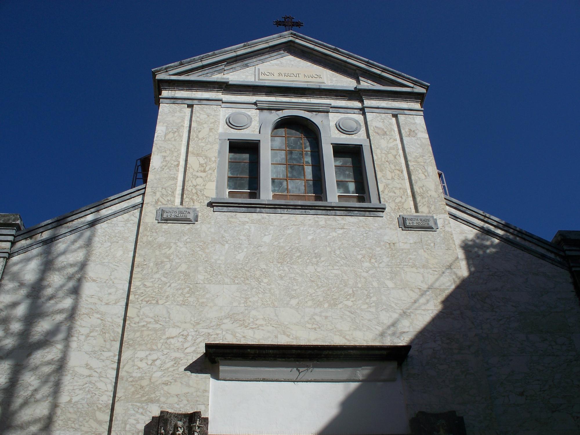
M537 258L554 264L555 266L559 266L562 269L568 269L563 249L550 243L548 240L538 237L535 234L528 233L519 227L507 223L499 218L495 218L495 216L488 215L487 213L464 204L461 201L455 200L454 198L445 196L445 204L449 208L448 214L451 219L481 231L484 234L490 235L491 237L505 242L514 248L530 253ZM456 213L455 211L458 211L459 213ZM501 233L495 230L501 231ZM522 241L525 241L525 243ZM532 248L528 244L539 249Z

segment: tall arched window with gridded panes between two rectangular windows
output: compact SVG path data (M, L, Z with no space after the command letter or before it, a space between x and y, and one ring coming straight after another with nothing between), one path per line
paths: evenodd
M272 199L322 201L320 146L305 125L282 121L271 134Z

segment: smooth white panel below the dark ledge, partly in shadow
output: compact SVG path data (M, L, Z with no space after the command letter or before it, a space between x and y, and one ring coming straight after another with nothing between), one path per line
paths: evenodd
M209 433L409 433L400 369L390 382L219 380L209 387Z

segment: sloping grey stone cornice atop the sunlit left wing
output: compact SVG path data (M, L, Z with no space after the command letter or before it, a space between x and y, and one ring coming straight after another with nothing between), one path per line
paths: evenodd
M62 224L73 222L73 220L77 220L83 218L84 216L91 215L92 213L102 211L113 205L121 204L121 202L125 202L137 197L142 197L145 193L145 187L146 184L137 186L134 189L129 189L117 195L113 195L112 197L105 198L104 200L93 202L93 204L86 205L72 212L60 215L57 218L46 220L45 222L34 225L30 228L27 228L26 230L19 231L14 241L24 240L25 238L31 237L32 235L44 233L44 231L52 230L53 228L56 228ZM140 202L142 201L143 199L141 199Z

